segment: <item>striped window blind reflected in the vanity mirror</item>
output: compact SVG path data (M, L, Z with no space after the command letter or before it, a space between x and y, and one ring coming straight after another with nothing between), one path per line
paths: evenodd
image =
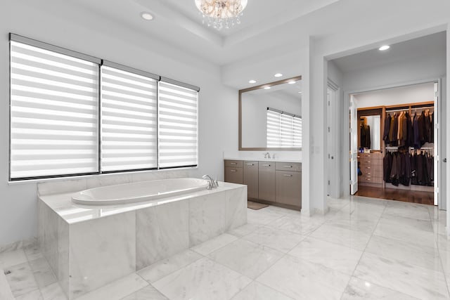
M268 148L302 148L302 119L296 115L267 109Z

